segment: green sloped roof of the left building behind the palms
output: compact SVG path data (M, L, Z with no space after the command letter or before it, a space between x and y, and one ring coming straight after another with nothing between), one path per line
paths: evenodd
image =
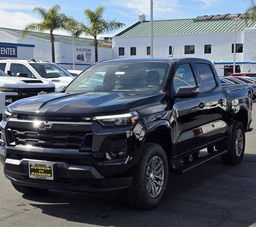
M19 33L21 35L21 30L18 29L11 29L11 28L4 28L1 27L1 29L5 29L7 31ZM28 32L29 36L41 38L45 40L50 40L50 34L48 33L39 33L39 32ZM64 44L72 44L72 37L68 35L56 35L54 34L55 42L62 42ZM83 37L75 37L74 38L75 45L83 45L83 46L91 46L94 45L94 40L90 38L83 38ZM104 40L98 40L99 46L109 47L112 48L112 45L105 44Z

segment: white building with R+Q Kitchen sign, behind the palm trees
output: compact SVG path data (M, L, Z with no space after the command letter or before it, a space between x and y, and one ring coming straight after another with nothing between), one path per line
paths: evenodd
M54 35L55 61L65 69L73 69L72 37ZM112 59L111 44L98 40L98 61ZM49 34L0 28L0 59L30 59L52 61ZM75 70L84 70L95 62L93 39L75 37Z

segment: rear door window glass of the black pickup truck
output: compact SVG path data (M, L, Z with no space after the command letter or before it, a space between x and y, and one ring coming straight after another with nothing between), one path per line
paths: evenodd
M206 63L196 63L196 66L199 71L199 75L202 80L204 91L209 91L216 87L216 81L214 79L212 70L209 64Z

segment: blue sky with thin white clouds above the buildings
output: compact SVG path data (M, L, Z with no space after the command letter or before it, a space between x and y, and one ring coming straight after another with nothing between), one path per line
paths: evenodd
M150 0L0 0L0 27L22 29L29 22L39 21L34 7L49 8L55 3L78 20L84 19L84 9L98 6L106 8L104 18L116 18L126 26L137 21L140 13L150 19ZM243 13L249 4L250 0L154 0L154 20Z

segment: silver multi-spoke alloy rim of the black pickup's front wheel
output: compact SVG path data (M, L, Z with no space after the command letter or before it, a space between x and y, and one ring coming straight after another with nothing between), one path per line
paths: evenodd
M162 159L158 156L155 156L149 162L147 168L147 181L146 187L149 195L152 198L156 198L163 186L164 181L164 166Z

